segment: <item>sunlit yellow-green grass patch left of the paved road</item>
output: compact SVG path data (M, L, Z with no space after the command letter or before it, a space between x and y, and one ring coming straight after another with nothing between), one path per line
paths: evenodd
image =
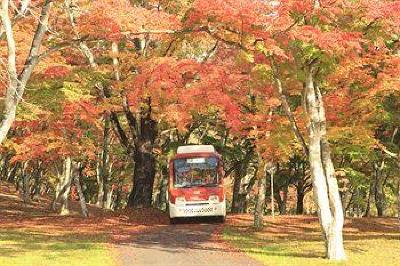
M104 235L0 230L0 265L115 265Z

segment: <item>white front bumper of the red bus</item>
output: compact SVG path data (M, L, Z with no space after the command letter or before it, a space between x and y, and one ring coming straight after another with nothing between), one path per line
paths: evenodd
M226 203L186 202L184 205L169 202L169 217L225 216Z

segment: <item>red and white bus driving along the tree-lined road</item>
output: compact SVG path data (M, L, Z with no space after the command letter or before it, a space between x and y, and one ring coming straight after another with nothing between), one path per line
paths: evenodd
M178 147L169 162L168 209L171 223L180 217L215 216L225 220L224 168L212 145Z

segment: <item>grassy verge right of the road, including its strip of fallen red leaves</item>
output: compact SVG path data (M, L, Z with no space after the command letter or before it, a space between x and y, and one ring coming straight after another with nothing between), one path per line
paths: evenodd
M397 265L400 231L392 220L350 221L345 226L345 249L348 260L332 263L323 258L317 221L290 217L269 221L263 231L255 232L250 223L231 222L224 238L234 247L265 265ZM397 230L397 231L396 231Z

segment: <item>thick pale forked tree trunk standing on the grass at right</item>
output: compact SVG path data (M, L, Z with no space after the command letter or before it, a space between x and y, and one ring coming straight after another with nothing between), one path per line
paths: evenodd
M322 95L315 87L313 70L307 73L305 84L305 110L309 133L309 163L313 183L314 200L318 206L318 217L325 240L326 257L344 260L343 207L335 170L331 160L326 136L325 109Z

